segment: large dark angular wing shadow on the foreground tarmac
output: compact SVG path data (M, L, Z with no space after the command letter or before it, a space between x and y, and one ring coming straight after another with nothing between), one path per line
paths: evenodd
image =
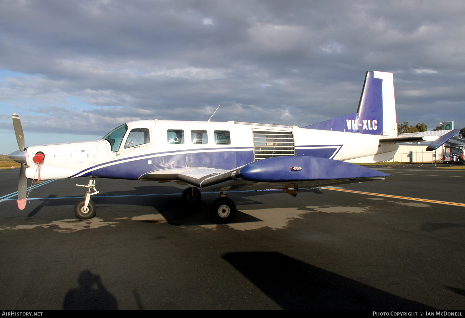
M434 310L279 252L222 256L283 309Z

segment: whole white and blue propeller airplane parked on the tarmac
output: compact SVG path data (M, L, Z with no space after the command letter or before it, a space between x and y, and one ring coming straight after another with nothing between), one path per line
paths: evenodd
M27 179L89 177L85 198L74 207L78 219L95 216L90 199L99 193L95 178L175 181L190 186L182 193L187 205L200 202L200 190L218 191L211 206L217 223L231 222L236 215L228 191L283 189L296 196L299 188L384 179L390 175L344 160L390 160L399 147L396 143L406 141L436 139L427 148L434 150L458 132L442 131L442 136L430 139L398 135L392 73L376 71L366 72L356 113L303 128L146 119L122 124L99 140L25 148L17 114L13 126L20 150L9 158L21 163L21 210Z

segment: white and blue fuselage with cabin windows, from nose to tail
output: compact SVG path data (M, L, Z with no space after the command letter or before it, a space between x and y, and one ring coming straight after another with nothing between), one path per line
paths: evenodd
M254 160L285 155L392 159L398 146L380 143L382 137L234 121L147 119L121 125L105 139L30 146L26 150L26 176L143 179L147 173L165 169L231 170ZM38 152L45 157L40 171L32 159Z

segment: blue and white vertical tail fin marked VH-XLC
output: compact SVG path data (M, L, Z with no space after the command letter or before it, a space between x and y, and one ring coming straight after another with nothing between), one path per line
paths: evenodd
M392 73L367 71L357 113L303 128L397 136Z

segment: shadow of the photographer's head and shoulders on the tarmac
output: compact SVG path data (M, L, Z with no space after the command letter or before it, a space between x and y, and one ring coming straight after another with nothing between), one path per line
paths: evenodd
M78 277L79 288L66 293L63 309L118 309L116 298L106 290L100 276L90 271L82 271Z

